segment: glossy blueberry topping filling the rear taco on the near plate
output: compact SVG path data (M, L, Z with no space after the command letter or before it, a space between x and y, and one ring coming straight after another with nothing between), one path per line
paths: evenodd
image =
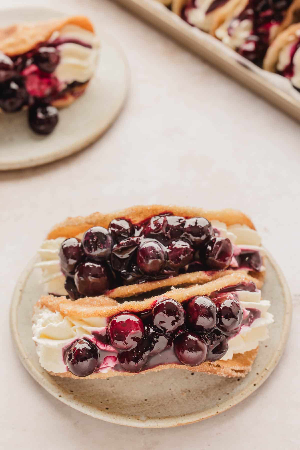
M256 249L241 249L216 236L204 217L167 211L137 224L122 217L113 219L108 229L92 227L81 242L66 239L59 257L63 273L75 279L77 298L199 270L260 271L262 265ZM72 292L69 295L74 299Z

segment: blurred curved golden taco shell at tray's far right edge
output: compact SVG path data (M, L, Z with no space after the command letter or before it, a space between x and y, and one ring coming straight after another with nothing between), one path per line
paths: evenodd
M300 2L297 2L300 8ZM292 17L292 14L289 14L289 18ZM269 46L269 49L264 57L264 70L268 70L269 72L277 72L277 64L279 60L279 54L284 47L287 45L292 45L300 41L300 23L294 23L290 25L286 30L282 31L275 40L273 40L272 44Z

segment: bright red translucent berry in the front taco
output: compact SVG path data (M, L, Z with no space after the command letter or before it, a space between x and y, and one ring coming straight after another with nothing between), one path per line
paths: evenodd
M107 328L112 345L120 350L131 350L144 335L142 320L130 313L115 315Z

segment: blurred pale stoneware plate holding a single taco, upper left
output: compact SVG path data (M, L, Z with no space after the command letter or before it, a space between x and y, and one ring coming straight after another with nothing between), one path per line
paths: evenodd
M62 16L65 14L43 8L0 9L0 27ZM103 33L99 40L94 78L81 98L59 111L53 133L41 136L31 131L26 111L1 114L0 170L39 166L69 156L98 139L116 120L126 99L129 69L117 42Z

